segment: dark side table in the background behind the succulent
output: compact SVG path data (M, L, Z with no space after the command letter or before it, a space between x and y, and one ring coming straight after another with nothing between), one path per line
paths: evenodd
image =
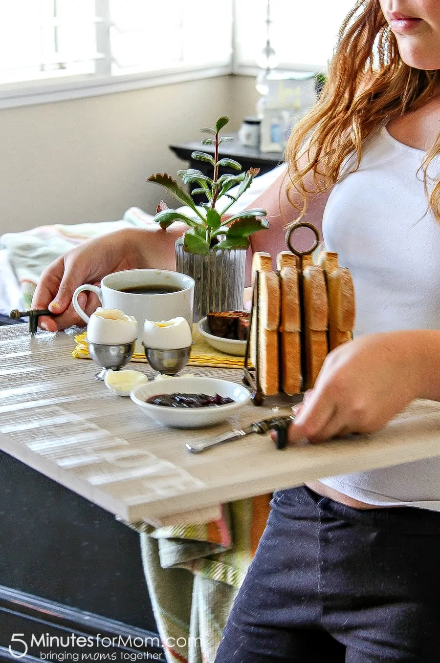
M242 164L243 170L249 168L259 168L259 174L263 175L265 172L272 170L283 161L283 154L281 152L260 152L259 149L254 147L244 147L240 145L236 133L229 134L234 138L234 143L222 143L220 145L219 155L221 157L228 156L235 159ZM201 139L200 139L201 140ZM173 143L169 145L169 149L173 151L179 158L189 163L190 168L197 168L201 170L204 175L212 177L212 166L205 161L199 161L191 158L194 151L207 152L214 154L214 147L212 145L202 145L200 141L189 141L188 143ZM237 170L232 168L220 168L220 175L224 173L235 173ZM198 184L191 187L198 188ZM198 200L200 198L200 200ZM196 202L204 200L202 196L195 196Z

